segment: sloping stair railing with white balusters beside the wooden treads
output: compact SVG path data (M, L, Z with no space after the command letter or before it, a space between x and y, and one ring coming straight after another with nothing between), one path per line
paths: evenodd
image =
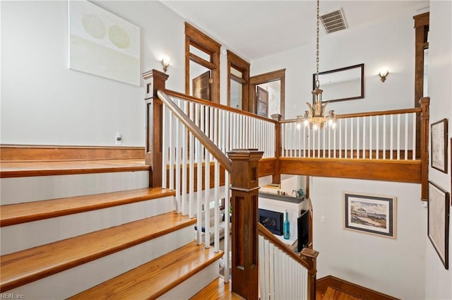
M182 215L197 217L196 239L198 244L202 243L202 235L204 235L204 244L208 248L212 244L210 237L212 235L215 251L220 251L220 201L225 199L222 224L224 226L224 270L227 282L230 267L228 251L230 244L229 181L232 163L223 152L225 150L225 133L219 130L208 130L209 127L214 128L213 125L208 124L214 123L209 123L210 114L206 114L206 119L204 118L204 109L194 107L194 104L181 98L168 96L163 90L158 90L157 96L164 104L162 110L162 165L167 167L162 168L162 187L176 190L176 211ZM206 132L212 133L212 135L208 136ZM215 134L213 134L214 132ZM215 145L213 140L217 141L220 147ZM213 169L210 165L211 162ZM210 178L214 179L212 188ZM214 212L213 216L210 216L211 210ZM213 220L213 224L211 220ZM211 227L213 227L213 232L210 232Z

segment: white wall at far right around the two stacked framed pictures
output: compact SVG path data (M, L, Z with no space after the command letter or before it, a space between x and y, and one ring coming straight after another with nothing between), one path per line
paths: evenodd
M448 119L452 133L452 2L430 1L429 97L430 123ZM429 180L451 192L451 147L448 143L448 174L429 168ZM427 214L427 210L425 212ZM444 268L432 243L426 244L426 299L452 299L452 219L449 217L449 270Z

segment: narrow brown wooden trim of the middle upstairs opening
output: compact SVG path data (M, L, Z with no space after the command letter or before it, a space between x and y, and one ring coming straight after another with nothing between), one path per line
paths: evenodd
M231 73L231 67L242 72L242 78ZM231 79L242 84L242 110L251 112L249 105L249 62L227 50L227 106L231 104Z

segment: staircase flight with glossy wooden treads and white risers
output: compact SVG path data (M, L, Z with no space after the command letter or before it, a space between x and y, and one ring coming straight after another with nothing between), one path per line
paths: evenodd
M2 161L0 177L2 296L189 299L218 277L222 252L143 160Z

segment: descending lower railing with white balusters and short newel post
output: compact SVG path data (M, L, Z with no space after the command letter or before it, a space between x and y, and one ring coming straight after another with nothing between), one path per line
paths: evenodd
M316 299L316 258L304 248L297 254L258 224L259 289L262 300Z

